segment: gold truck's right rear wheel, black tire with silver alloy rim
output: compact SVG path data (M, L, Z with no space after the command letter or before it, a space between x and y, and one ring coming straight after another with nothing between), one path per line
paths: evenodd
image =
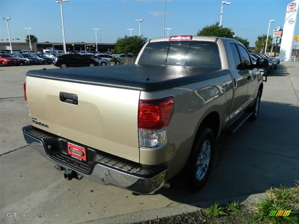
M212 129L200 127L187 162L188 191L197 192L205 184L213 163L215 137Z

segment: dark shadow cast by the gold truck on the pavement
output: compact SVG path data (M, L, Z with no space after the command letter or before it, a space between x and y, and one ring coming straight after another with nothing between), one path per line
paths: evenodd
M261 102L256 121L245 122L235 134L221 135L213 169L196 194L177 178L171 189L157 193L190 205L221 199L243 200L299 179L299 106Z

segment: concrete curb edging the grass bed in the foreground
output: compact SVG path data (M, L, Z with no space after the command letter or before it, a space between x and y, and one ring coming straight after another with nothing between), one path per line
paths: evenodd
M152 210L147 210L147 211L129 213L129 214L113 216L113 217L107 217L107 218L103 218L103 219L97 219L97 220L82 222L82 223L78 223L78 224L98 224L98 223L131 224L131 223L138 223L138 222L147 221L147 220L155 220L158 218L175 216L175 215L182 214L184 212L189 213L189 212L198 211L198 210L208 207L209 205L211 205L213 203L227 205L228 203L233 202L233 201L246 202L246 201L258 200L264 196L265 196L265 193L259 193L259 194L252 194L252 195L248 195L248 196L239 196L239 197L224 198L224 199L219 199L219 200L197 202L197 203L193 203L192 205L179 204L179 205L169 206L169 207L164 207L164 208L157 208L157 209L152 209Z

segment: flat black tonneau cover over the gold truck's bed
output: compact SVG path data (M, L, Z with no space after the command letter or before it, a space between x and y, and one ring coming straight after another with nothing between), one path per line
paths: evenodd
M225 69L160 65L119 65L30 70L26 76L140 91L158 91L229 73Z

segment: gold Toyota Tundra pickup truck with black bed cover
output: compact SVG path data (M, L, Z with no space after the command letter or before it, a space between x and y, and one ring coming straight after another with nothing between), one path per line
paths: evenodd
M149 194L184 170L197 191L215 139L257 118L267 64L233 39L171 36L134 65L28 71L23 134L67 179Z

